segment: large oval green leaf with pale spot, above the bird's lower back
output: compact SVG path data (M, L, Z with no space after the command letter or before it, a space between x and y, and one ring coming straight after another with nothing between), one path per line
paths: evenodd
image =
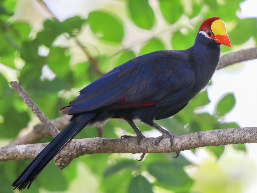
M89 26L98 39L121 43L124 35L122 22L104 11L92 11L88 16Z

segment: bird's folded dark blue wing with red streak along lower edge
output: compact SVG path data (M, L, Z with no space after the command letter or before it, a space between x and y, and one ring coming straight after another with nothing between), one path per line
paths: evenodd
M136 57L83 88L61 114L176 102L194 85L187 58L182 51Z

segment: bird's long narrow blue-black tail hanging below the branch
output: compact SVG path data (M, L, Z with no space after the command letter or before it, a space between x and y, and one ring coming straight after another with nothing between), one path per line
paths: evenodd
M96 115L96 113L80 114L75 117L23 170L21 175L13 182L13 189L28 189L45 168L45 166L70 142Z

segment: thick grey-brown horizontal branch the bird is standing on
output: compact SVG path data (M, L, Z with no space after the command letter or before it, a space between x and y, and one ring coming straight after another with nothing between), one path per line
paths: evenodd
M140 145L135 138L85 138L72 140L56 157L61 169L84 154L96 153L170 153L195 149L204 146L256 143L257 127L216 129L190 133L174 138L170 148L170 139L164 138L160 144L154 144L155 138L142 138ZM18 145L0 148L0 161L25 160L34 158L48 143Z

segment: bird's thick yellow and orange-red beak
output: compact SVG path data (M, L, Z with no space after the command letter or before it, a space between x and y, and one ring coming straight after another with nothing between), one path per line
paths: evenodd
M212 33L214 34L215 38L214 40L217 43L226 45L231 48L231 44L228 38L227 30L226 30L226 24L221 19L215 20L212 22Z

